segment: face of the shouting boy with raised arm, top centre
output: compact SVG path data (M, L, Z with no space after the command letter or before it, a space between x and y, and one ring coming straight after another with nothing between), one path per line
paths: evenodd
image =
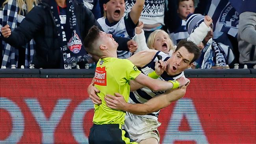
M124 15L125 2L124 0L110 0L103 7L107 13L108 21L110 23L117 22Z

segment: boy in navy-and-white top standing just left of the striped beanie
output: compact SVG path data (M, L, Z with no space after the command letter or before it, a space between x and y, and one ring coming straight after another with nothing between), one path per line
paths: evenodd
M167 19L166 25L174 44L189 37L186 29L186 18L189 13L194 13L194 11L194 0L168 1L168 13L165 13L165 19Z

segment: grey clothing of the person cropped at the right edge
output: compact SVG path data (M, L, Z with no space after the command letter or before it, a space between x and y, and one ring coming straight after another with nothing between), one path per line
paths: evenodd
M239 19L237 36L239 63L252 68L256 65L256 12L245 11L240 14Z

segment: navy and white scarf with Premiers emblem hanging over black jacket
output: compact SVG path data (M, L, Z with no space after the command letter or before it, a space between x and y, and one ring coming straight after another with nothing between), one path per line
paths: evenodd
M58 41L63 52L63 63L61 68L76 68L80 61L87 61L90 56L83 48L79 27L77 26L76 15L74 11L74 2L69 0L66 8L65 29L61 26L58 6L55 0L50 1L50 8L55 19L58 30Z

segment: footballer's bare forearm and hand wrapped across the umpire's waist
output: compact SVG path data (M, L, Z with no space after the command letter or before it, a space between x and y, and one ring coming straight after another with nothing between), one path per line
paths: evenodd
M150 99L146 103L131 104L125 102L121 94L115 93L115 96L107 94L104 98L108 107L121 111L127 111L129 113L137 115L145 115L158 111L164 107L167 107L171 102L174 102L184 96L186 92L186 86L179 89L169 90L163 94Z

